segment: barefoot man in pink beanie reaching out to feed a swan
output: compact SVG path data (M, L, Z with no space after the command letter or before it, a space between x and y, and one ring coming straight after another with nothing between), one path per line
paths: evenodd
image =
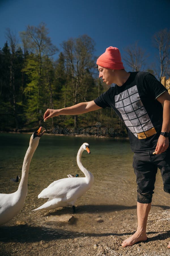
M147 240L146 223L158 167L164 191L170 193L170 95L150 73L126 72L118 48L107 48L97 59L97 65L103 82L116 85L93 101L59 110L47 109L44 121L58 115L77 115L111 107L126 125L134 152L138 218L137 231L122 243L127 247Z

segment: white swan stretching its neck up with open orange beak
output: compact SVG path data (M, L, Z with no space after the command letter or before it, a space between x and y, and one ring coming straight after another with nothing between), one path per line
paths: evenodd
M40 127L37 132L34 132L31 135L29 147L24 157L22 177L18 186L18 190L11 194L0 194L0 225L12 219L24 205L25 197L27 195L29 165L39 144L39 139L45 131L44 130L41 133L41 128L42 127Z

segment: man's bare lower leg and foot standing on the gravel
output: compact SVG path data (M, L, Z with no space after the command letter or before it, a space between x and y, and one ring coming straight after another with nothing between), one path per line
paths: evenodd
M132 246L134 243L147 240L146 224L147 224L150 208L151 208L151 203L141 204L137 202L137 220L138 220L137 231L131 237L123 241L122 243L123 247Z

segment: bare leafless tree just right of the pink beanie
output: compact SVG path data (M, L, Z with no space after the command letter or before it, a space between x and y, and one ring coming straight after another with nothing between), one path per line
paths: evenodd
M145 51L137 45L135 42L133 45L124 49L125 57L123 60L131 68L132 71L141 71L145 65L145 60L148 56L145 55Z

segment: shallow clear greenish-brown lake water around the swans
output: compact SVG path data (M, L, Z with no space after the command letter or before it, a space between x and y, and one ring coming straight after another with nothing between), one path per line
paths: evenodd
M22 163L29 145L30 134L0 133L0 193L12 193L18 183L10 178L21 177ZM35 151L28 177L28 194L22 211L10 222L25 220L30 225L45 226L48 215L72 214L72 207L53 211L32 212L46 199L37 195L51 182L67 177L67 174L84 174L76 164L76 154L81 144L90 144L89 155L82 154L82 164L94 175L94 185L76 201L77 222L65 230L87 232L115 232L120 226L136 223L136 178L132 167L133 152L129 141L123 139L97 137L50 136L44 134ZM152 212L169 208L169 195L163 191L163 183L158 170ZM96 224L96 218L104 222Z

